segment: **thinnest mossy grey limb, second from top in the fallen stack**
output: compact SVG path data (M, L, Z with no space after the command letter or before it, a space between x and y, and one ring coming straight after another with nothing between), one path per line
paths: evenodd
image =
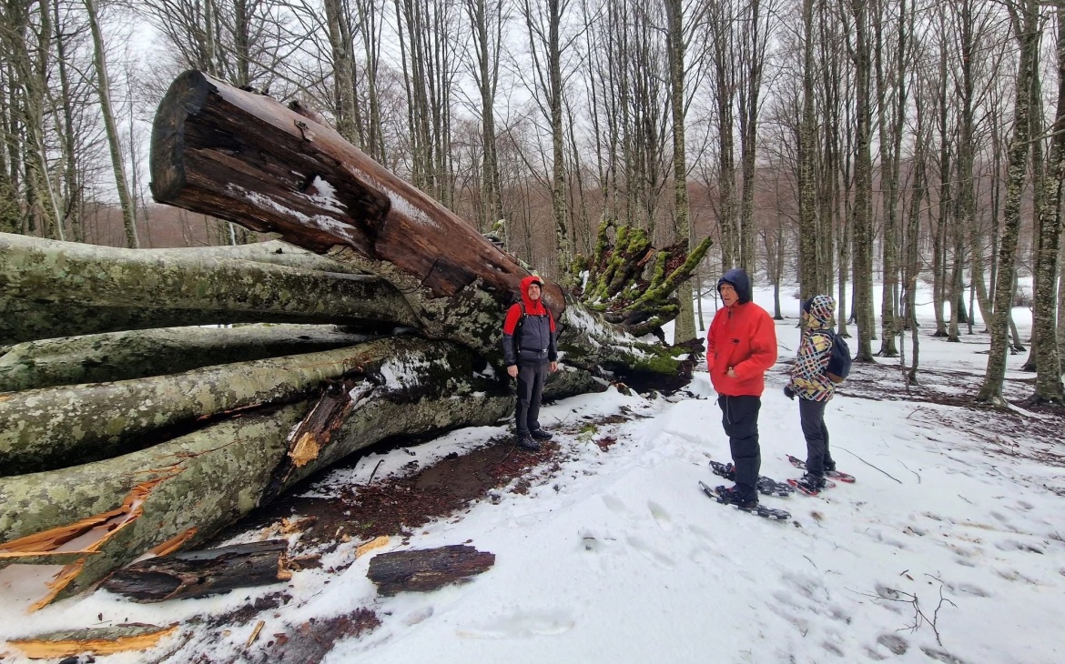
M0 355L0 392L180 374L199 367L354 346L337 326L161 328L23 342Z

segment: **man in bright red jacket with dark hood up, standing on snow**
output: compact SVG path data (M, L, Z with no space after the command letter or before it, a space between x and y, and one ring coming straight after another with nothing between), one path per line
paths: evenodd
M732 448L736 485L719 487L723 502L753 510L761 450L758 447L758 411L766 387L765 375L776 362L776 329L766 310L751 301L751 279L731 269L718 281L724 306L718 310L706 334L706 368L718 393L721 424Z

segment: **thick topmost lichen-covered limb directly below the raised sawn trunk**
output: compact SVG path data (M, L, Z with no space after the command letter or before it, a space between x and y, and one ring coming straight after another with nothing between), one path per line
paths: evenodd
M109 325L96 316L81 321L66 305L100 308L104 313L108 309L214 312L208 322L232 322L229 314L246 314L255 321L267 315L307 322L412 326L416 321L404 297L376 277L162 251L0 233L0 297L21 304L17 317L0 318L0 344L131 329L128 319ZM63 305L62 313L49 315L48 304ZM56 326L63 315L68 322ZM203 322L201 318L159 325L150 316L145 318L148 327ZM77 330L78 325L84 329Z

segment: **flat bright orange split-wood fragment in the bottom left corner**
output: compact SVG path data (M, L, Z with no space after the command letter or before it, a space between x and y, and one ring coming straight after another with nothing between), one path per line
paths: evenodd
M76 657L83 653L114 654L132 650L154 648L160 641L178 631L177 625L117 625L86 630L60 631L32 638L12 638L7 642L32 660Z

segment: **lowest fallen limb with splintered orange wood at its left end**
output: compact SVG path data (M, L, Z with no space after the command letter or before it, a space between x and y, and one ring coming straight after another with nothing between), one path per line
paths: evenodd
M344 421L322 424L329 435L314 433L316 456L284 470L282 491L386 437L487 426L513 408L507 385L458 346L396 337L360 348L366 378L348 393ZM116 459L0 478L0 567L75 554L42 588L40 608L157 547L201 545L260 503L284 459L297 453L291 434L309 408L249 414Z

